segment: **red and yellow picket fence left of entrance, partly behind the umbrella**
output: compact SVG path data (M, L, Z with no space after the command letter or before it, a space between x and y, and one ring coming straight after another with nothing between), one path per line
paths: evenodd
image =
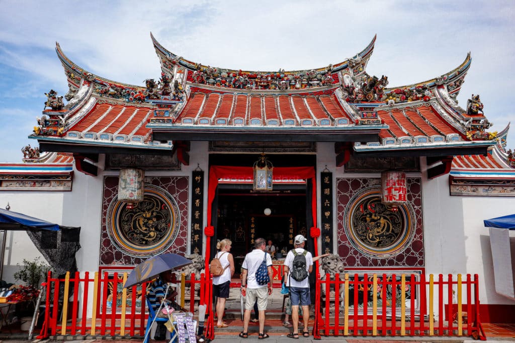
M149 283L123 288L125 280L127 273L109 275L105 272L99 275L96 272L94 277L90 278L88 272L84 273L83 277L77 272L70 278L68 272L64 279L53 278L52 274L48 273L47 280L43 283L46 291L43 328L37 338L47 338L50 335L143 337L148 318L145 296ZM188 300L190 304L187 309L198 314L198 305L207 304L204 335L208 339L213 339L212 277L208 276L206 279L205 275L201 274L200 280L195 280L195 274L191 274L187 279L182 274L176 281L181 306L184 307L185 301ZM195 291L186 292L195 290L195 286L198 285L198 296ZM91 316L88 317L88 313L91 313Z

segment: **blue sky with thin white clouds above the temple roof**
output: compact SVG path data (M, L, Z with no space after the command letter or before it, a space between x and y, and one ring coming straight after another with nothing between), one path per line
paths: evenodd
M0 0L0 161L20 162L45 92L67 90L55 53L91 73L143 85L158 78L152 32L168 50L206 65L308 69L344 61L377 34L367 67L389 87L425 81L472 53L458 96L479 94L501 131L515 125L513 1L20 1ZM515 148L515 128L508 136Z

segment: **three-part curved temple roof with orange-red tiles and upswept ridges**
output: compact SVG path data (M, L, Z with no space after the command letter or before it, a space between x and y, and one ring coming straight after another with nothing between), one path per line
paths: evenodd
M146 80L145 87L98 77L56 44L71 99L61 111L43 112L49 118L33 138L168 151L176 140L270 140L272 133L286 141L354 142L355 152L494 144L480 131L488 127L483 114L468 115L455 101L470 53L438 78L386 88L386 77L365 71L375 37L344 62L278 72L211 68L178 57L151 38L163 73L157 82ZM481 134L473 136L471 128Z

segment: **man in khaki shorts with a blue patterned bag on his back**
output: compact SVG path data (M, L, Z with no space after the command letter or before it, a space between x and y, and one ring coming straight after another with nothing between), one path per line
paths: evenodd
M259 312L259 339L268 338L265 330L265 310L268 305L268 296L272 294L272 258L270 254L265 252L265 239L258 238L254 241L254 250L245 256L242 264L242 295L245 296L245 315L243 317L243 331L239 337L248 337L248 328L250 320L250 311L254 307L256 299L258 301ZM265 257L266 256L266 257ZM270 278L267 285L260 285L256 281L256 271L260 264L266 263L268 277ZM268 289L267 289L268 286Z

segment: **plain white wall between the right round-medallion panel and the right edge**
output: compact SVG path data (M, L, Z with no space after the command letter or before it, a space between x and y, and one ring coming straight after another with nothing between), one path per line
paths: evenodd
M450 196L449 175L443 175L432 180L424 176L423 201L426 273L444 278L478 274L480 303L513 304L495 292L490 238L483 220L513 213L515 197Z

